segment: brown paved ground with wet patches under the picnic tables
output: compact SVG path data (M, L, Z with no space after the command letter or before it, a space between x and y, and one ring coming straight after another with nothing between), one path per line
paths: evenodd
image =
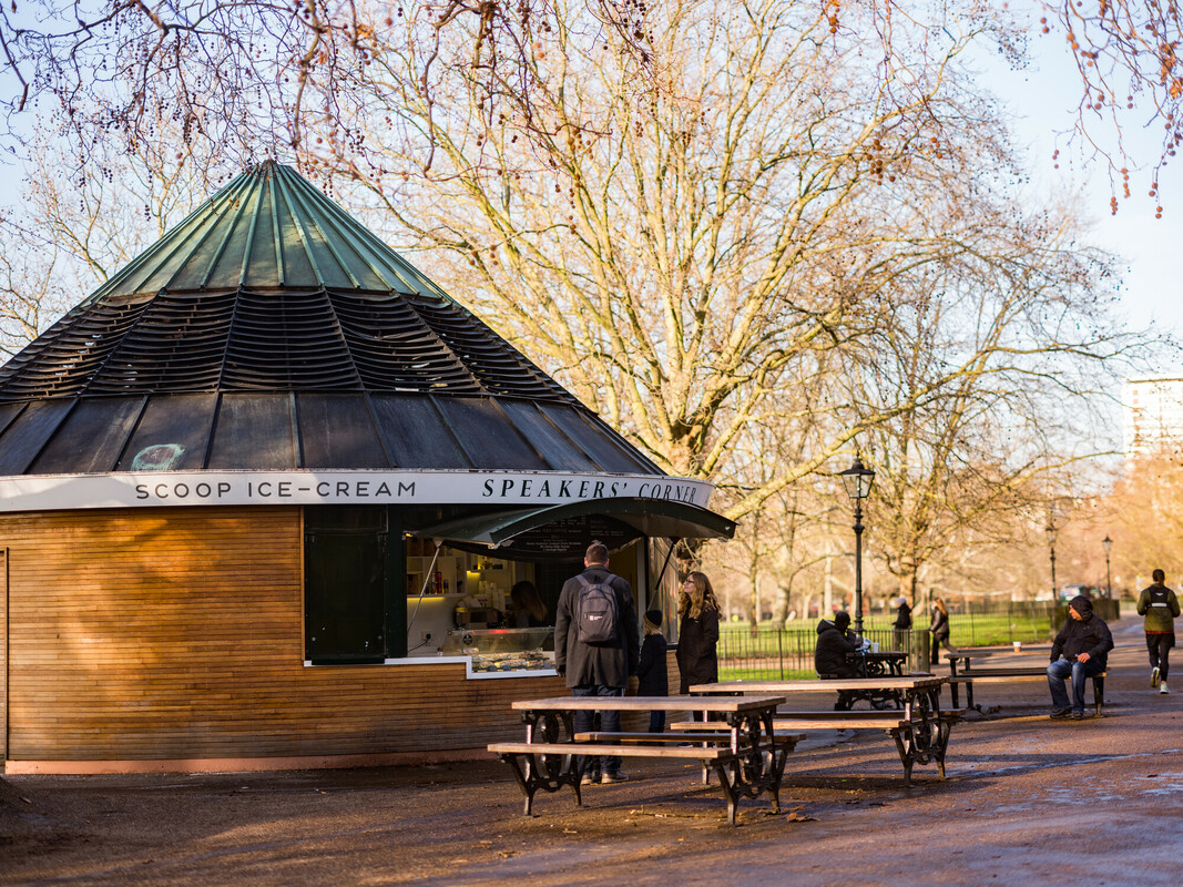
M278 775L7 777L0 885L1183 883L1183 667L1148 685L1139 620L1110 660L1108 717L1046 718L1046 686L955 729L949 776L912 789L886 738L790 758L781 815L726 826L694 768L521 814L487 764ZM1179 655L1183 660L1183 654ZM1183 663L1181 663L1183 666Z

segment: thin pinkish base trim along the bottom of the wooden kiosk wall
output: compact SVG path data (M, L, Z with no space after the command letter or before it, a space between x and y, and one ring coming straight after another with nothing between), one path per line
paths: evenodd
M222 773L259 770L340 770L357 766L492 760L485 749L397 751L384 755L303 755L282 758L170 758L160 760L6 760L7 776L98 776L103 773Z

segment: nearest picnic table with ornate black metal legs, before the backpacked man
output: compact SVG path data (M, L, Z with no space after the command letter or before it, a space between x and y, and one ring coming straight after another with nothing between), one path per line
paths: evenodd
M687 710L704 711L712 720L710 729L699 733L626 733L574 731L576 711L651 712ZM728 822L736 822L736 805L741 797L755 798L764 792L771 797L772 809L780 812L781 778L784 763L801 734L780 734L774 731L777 706L783 695L719 697L694 699L686 697L552 697L521 699L512 704L522 713L525 742L490 743L489 750L513 768L518 786L525 795L526 816L538 790L554 792L564 785L575 791L575 803L583 804L580 792L580 758L592 755L612 755L631 758L661 758L697 760L703 766L703 783L710 771L718 773L728 802ZM705 725L699 725L704 727ZM692 745L681 745L693 743Z

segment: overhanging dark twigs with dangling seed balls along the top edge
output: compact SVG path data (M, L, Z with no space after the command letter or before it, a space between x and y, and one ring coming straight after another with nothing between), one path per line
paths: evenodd
M625 51L636 63L640 80L660 88L654 21L677 17L681 5L680 0L592 0L583 5L580 34L609 38L613 51ZM905 93L897 99L905 105L911 102L910 86L900 72L917 64L918 48L932 51L961 22L974 21L981 39L1015 64L1023 63L1032 37L1062 39L1080 75L1075 138L1091 148L1107 136L1118 140L1116 151L1098 149L1111 167L1114 208L1118 189L1129 196L1130 168L1136 167L1123 132L1149 124L1163 128L1162 151L1149 173L1149 194L1157 201L1157 173L1183 138L1178 128L1183 97L1178 5L1034 0L1026 15L1024 7L1007 2L887 0L810 4L801 9L808 9L819 25L808 39L832 47L835 57L858 43L866 58L879 64L887 97ZM554 59L567 51L573 37L565 27L570 12L561 0L393 5L73 0L62 7L44 0L13 2L0 9L6 103L18 112L41 102L45 109L56 106L54 117L84 148L96 134L104 138L117 134L134 148L142 140L151 141L161 122L174 121L182 129L182 145L209 140L240 162L270 156L279 145L315 151L317 140L325 135L313 130L327 129L364 167L366 134L351 115L341 114L342 104L348 105L347 93L358 80L381 79L388 53L409 59L407 76L422 85L431 117L452 110L452 97L434 89L437 73L450 66L470 67L487 99L486 121L496 129L503 98L510 105L530 106L536 90L545 86L539 76L549 71L535 63L539 54ZM917 31L930 34L919 47L913 39ZM419 129L419 112L403 119L397 105L386 110L426 136L420 161L429 168L433 132ZM587 137L599 121L587 117L580 123Z

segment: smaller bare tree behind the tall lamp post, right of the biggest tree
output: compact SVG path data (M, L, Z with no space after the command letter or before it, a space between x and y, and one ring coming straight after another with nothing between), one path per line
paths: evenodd
M1016 518L1064 496L1075 464L1112 452L1098 402L1144 336L1106 319L1107 258L1077 245L1069 211L980 206L974 250L897 280L878 360L845 378L883 414L866 438L877 551L916 598L951 543L1014 539Z

